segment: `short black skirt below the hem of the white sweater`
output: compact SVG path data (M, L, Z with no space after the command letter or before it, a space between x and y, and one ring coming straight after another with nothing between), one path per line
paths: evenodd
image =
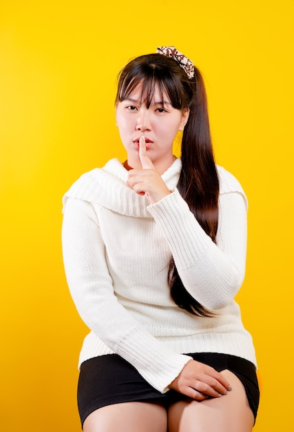
M194 360L208 364L216 371L228 369L244 385L254 418L258 413L260 391L255 366L235 355L218 353L187 354ZM160 393L138 371L117 354L101 355L83 362L78 378L78 412L81 424L90 413L102 406L122 402L156 402L169 405L187 399L174 390Z

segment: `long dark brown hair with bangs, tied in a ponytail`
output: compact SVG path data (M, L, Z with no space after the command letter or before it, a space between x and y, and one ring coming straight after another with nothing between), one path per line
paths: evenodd
M189 108L189 119L182 133L182 168L177 188L189 205L202 229L216 243L218 230L219 183L213 157L207 97L204 81L197 68L189 79L174 59L160 54L137 57L120 72L116 102L127 99L132 91L142 85L141 98L151 104L156 86L162 94L166 91L171 106L178 110ZM194 299L182 284L171 259L169 264L171 297L180 308L198 316L214 314Z

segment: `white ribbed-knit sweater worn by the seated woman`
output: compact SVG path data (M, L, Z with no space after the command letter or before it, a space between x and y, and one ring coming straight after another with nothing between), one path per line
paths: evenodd
M185 353L228 353L256 364L233 300L244 279L246 196L218 167L216 246L176 189L180 165L176 159L162 175L174 193L156 204L127 187L118 159L82 175L63 197L65 273L91 330L79 364L117 353L162 393L190 360ZM216 317L196 317L171 300L171 255L187 291Z

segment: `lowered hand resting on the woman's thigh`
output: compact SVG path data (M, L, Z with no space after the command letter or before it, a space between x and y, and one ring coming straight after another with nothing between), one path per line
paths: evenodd
M176 380L169 384L174 389L192 399L204 400L208 397L220 397L231 391L229 382L211 366L190 360Z

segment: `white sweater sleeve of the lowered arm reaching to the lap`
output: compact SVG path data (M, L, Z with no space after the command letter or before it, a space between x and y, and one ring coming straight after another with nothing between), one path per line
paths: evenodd
M191 357L158 342L119 304L92 204L69 198L63 213L63 260L78 313L114 353L164 393Z

